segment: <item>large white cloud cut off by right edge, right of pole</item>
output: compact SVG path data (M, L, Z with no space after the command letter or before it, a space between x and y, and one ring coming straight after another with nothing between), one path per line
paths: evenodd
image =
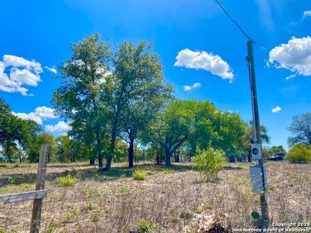
M277 69L285 68L297 75L311 76L311 37L293 36L287 44L276 46L269 52L269 63Z

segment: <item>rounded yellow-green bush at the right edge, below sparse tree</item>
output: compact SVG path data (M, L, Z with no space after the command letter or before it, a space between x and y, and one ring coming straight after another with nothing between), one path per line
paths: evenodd
M311 148L310 146L298 144L288 152L287 159L292 164L311 164Z

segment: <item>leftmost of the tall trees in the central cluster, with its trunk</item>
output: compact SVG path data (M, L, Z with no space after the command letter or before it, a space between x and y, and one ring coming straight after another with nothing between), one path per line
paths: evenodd
M72 57L58 69L63 79L61 87L54 91L52 105L55 112L66 120L79 120L90 126L95 134L99 168L103 168L101 130L106 126L104 105L100 95L111 59L110 44L100 41L95 33L86 39L72 43Z

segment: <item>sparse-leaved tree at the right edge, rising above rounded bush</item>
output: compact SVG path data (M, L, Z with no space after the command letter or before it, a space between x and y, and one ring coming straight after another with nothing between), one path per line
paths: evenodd
M287 130L293 134L287 140L290 147L296 144L311 145L311 112L293 116L293 122Z

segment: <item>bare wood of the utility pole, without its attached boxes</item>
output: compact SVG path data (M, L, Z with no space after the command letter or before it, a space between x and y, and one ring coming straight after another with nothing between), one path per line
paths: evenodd
M254 52L253 52L253 41L247 41L247 54L248 62L250 64L250 85L252 94L252 106L253 106L253 124L254 124L254 136L255 143L259 143L261 147L261 134L260 134L260 124L259 124L259 110L258 110L258 100L257 100L257 88L255 79L255 65L254 65ZM261 150L262 151L262 150ZM263 156L261 154L261 159L258 160L258 165L263 166ZM262 175L263 176L263 175ZM264 177L262 177L263 179ZM268 213L268 201L266 192L260 193L260 208L261 216L264 220L269 221Z

